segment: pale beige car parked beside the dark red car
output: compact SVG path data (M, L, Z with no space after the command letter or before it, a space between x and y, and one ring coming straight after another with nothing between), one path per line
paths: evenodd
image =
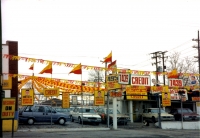
M158 113L159 113L159 108L146 108L144 109L142 113L143 120L146 121L152 121L152 122L157 122L158 121ZM168 114L165 112L165 110L160 109L160 116L161 116L161 121L173 121L174 116L171 114Z

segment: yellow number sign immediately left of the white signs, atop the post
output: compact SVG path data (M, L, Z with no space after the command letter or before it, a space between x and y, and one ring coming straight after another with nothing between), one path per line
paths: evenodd
M121 84L118 83L117 74L106 76L106 89L107 90L121 89Z

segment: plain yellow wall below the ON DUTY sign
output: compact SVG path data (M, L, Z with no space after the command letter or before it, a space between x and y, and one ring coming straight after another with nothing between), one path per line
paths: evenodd
M12 120L2 120L2 128L3 131L12 132ZM14 130L17 131L18 129L18 120L14 120Z

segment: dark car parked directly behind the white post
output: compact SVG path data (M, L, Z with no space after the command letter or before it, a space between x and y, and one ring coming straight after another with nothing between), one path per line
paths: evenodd
M102 123L106 123L107 122L107 108L98 108L97 112L101 116ZM108 113L109 113L109 123L113 124L113 109L109 108ZM122 114L119 112L119 110L117 110L117 123L127 125L128 121L130 121L129 116Z

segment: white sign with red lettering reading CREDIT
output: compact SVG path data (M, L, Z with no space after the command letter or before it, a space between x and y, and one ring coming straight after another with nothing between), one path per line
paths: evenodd
M131 85L133 86L151 86L150 76L131 75Z

